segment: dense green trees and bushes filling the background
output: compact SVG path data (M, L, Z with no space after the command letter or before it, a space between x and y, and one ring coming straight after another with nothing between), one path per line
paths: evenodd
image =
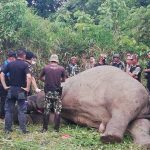
M143 55L150 48L149 4L148 0L2 0L0 47L31 49L45 60L56 52L62 61L82 52Z

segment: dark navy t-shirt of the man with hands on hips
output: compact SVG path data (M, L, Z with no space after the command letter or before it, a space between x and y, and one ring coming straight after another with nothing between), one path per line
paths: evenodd
M4 74L9 73L9 85L17 87L26 87L26 75L30 73L27 63L17 59L9 63L3 70Z

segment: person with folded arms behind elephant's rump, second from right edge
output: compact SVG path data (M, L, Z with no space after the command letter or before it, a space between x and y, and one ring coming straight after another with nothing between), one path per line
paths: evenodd
M134 79L138 80L139 82L141 82L142 68L138 63L138 56L136 54L133 54L131 58L132 58L132 63L131 63L132 65L129 71L129 75Z

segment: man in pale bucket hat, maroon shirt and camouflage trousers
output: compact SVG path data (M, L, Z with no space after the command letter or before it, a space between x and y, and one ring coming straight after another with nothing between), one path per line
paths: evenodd
M60 127L61 103L61 82L65 81L65 69L58 65L59 60L56 54L51 55L50 63L41 72L40 79L44 81L45 107L43 116L42 132L48 130L50 112L54 111L54 129L58 132Z

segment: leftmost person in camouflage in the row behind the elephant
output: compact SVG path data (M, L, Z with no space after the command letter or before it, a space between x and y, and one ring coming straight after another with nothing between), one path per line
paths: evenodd
M77 65L77 58L75 56L71 57L71 61L66 68L67 77L72 77L80 72L80 68Z

